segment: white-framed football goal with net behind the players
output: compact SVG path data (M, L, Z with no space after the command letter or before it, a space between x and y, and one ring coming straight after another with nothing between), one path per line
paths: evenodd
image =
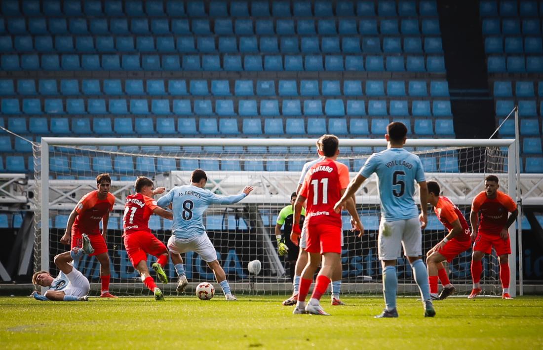
M484 176L495 174L504 192L515 192L514 140L409 139L406 149L419 155L427 181L440 184L469 219L471 201L483 190ZM338 161L351 171L351 179L373 153L386 148L384 140L340 139ZM70 212L81 196L96 189L96 175L109 173L116 202L108 224L111 259L111 288L121 295L147 295L138 273L130 264L122 241L122 215L127 195L134 193L134 181L143 175L155 187L190 183L196 168L208 176L207 189L219 195L237 194L244 186L254 192L235 205L210 206L204 223L220 264L232 289L242 293L289 294L292 291L291 263L276 250L277 214L289 205L296 190L302 165L317 157L314 139L142 139L142 138L43 138L35 149L37 202L35 269L58 272L53 257L70 249L60 243ZM39 164L41 162L41 164ZM513 164L513 165L510 165ZM509 165L509 166L508 166ZM418 194L415 194L418 202ZM156 197L158 198L158 196ZM377 230L380 205L377 180L372 175L357 193L357 207L365 227L364 236L348 231L349 215L343 213L342 293L381 294L381 266L377 258ZM429 209L423 231L423 252L441 240L443 225ZM166 242L171 222L151 216L149 227ZM516 237L512 230L512 238ZM287 237L288 239L288 237ZM512 239L515 244L515 239ZM515 252L513 246L513 252ZM258 259L262 270L251 276L247 264ZM148 263L155 262L149 257ZM194 288L199 282L214 281L212 271L196 253L184 254L185 270ZM512 285L515 285L515 253L512 255ZM471 289L471 250L447 266L460 294ZM405 258L397 262L399 293L415 293L411 267ZM92 292L99 292L100 264L84 258L79 270L89 277ZM486 294L501 292L499 264L495 254L483 260L482 285ZM177 278L172 263L166 266L170 283L161 286L166 295L176 295ZM217 286L218 287L218 286ZM514 289L513 289L514 290Z

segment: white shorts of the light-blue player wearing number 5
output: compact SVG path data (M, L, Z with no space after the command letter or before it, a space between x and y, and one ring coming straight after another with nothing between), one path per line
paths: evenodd
M377 239L379 260L395 260L401 257L401 248L407 257L422 255L422 231L419 218L384 221L379 225Z

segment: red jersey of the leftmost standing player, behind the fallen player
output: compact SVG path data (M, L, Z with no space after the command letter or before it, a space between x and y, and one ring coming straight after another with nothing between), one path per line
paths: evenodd
M99 234L99 222L105 214L113 210L114 204L115 196L111 193L108 193L104 200L98 199L98 190L87 193L75 206L78 215L75 217L72 230Z

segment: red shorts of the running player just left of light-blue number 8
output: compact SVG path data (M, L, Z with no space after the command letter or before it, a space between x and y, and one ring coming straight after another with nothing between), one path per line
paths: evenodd
M136 231L123 237L124 247L132 266L136 267L141 260L147 260L147 254L158 257L168 252L166 246L153 233Z

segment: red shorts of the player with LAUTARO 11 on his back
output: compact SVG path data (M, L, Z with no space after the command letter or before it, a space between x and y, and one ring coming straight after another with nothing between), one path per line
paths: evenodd
M341 233L336 225L307 225L306 252L341 254Z

